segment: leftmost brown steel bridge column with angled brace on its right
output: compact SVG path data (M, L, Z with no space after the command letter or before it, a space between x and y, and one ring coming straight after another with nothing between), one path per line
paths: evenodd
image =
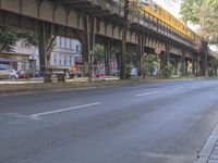
M44 82L51 83L51 70L48 68L48 65L50 64L50 48L56 39L55 26L40 22L38 27L40 71L44 75Z

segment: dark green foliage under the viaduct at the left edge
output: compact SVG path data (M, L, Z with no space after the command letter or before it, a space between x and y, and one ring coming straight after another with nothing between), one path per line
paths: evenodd
M38 45L37 36L32 32L11 27L0 27L0 52L13 51L13 46L19 40L23 40L33 46Z

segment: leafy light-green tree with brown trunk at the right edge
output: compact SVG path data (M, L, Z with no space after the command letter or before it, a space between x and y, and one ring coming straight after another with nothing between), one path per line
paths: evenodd
M183 0L181 5L182 20L198 25L201 36L201 71L208 74L208 43L218 43L218 1L217 0Z

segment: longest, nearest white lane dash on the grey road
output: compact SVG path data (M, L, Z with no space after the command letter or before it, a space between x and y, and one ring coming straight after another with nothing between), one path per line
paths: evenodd
M93 106L93 105L99 105L102 102L95 102L95 103L88 103L88 104L83 104L83 105L77 105L77 106L71 106L71 108L65 108L65 109L60 109L60 110L55 110L55 111L49 111L49 112L36 113L36 114L32 114L31 117L38 117L38 116L43 116L43 115L49 115L49 114L55 114L55 113L60 113L60 112L65 112L65 111L71 111L71 110Z

